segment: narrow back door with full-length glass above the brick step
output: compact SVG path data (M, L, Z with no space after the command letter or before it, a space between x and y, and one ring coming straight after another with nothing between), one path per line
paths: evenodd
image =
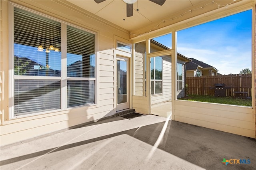
M128 109L129 103L129 59L118 56L116 58L116 111Z

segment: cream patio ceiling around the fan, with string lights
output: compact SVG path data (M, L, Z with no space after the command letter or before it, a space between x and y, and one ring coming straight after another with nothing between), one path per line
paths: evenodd
M149 0L138 0L133 5L131 17L126 17L126 4L123 0L105 0L101 3L94 0L68 1L131 33L143 34L140 28L161 28L217 8L226 8L227 4L240 0L166 0L162 6Z

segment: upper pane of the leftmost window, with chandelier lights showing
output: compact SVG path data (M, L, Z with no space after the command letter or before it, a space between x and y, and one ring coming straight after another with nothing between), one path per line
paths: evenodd
M60 29L59 22L14 8L14 75L60 77L61 53L49 49L61 50Z

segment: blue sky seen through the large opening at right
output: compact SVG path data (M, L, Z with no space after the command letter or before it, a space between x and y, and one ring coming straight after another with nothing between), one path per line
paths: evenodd
M252 70L252 10L178 31L177 51L221 74Z

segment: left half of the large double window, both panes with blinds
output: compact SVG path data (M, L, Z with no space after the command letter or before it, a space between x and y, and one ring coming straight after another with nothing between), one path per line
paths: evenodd
M14 116L60 109L60 29L59 22L14 8Z

